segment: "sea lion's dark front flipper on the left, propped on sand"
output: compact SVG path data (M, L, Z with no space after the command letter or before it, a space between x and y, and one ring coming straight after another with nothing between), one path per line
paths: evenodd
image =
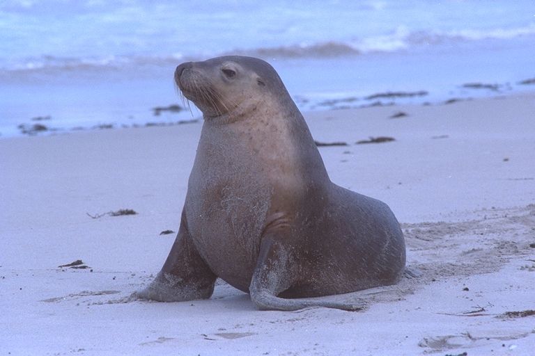
M212 296L216 278L197 252L183 213L178 235L162 270L146 289L133 296L160 302L207 299Z

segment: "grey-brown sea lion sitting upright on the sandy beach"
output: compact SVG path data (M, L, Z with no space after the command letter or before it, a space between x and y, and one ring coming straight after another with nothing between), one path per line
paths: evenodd
M405 241L394 214L329 180L271 65L218 57L179 65L175 81L203 112L203 128L178 236L137 298L210 298L220 277L258 309L356 310L362 301L307 297L398 281Z

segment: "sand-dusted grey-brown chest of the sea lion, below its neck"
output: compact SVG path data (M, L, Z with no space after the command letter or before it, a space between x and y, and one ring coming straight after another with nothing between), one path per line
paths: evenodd
M197 250L227 282L250 278L272 197L266 168L242 141L203 129L185 204Z

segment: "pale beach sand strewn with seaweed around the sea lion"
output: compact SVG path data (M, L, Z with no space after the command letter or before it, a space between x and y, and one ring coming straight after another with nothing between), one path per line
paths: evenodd
M350 144L320 147L331 179L390 205L421 277L364 312L259 312L226 284L121 302L171 248L201 123L5 138L0 355L535 355L535 316L500 316L535 309L535 95L306 116ZM118 209L139 214L86 215ZM76 259L92 272L57 268Z

